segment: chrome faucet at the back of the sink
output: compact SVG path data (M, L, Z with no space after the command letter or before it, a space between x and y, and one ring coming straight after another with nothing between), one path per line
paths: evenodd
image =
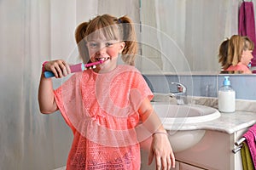
M177 105L187 105L187 88L180 82L172 82L177 85L177 92L171 93L170 97L177 99Z

